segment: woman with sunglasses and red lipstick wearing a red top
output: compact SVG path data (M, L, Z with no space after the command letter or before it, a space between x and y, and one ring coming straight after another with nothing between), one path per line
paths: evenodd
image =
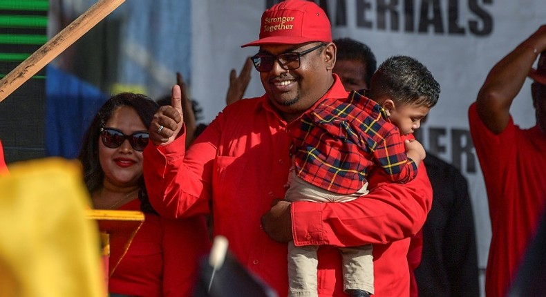
M93 207L140 210L145 215L122 260L109 263L110 296L189 296L198 261L209 249L203 215L160 218L149 204L142 151L157 109L158 104L144 95L111 97L95 115L79 153ZM124 243L125 238L111 236L111 259L125 252Z

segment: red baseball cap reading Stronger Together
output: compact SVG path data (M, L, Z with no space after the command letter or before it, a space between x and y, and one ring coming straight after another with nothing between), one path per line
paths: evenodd
M241 48L309 41L332 41L332 29L326 12L312 1L285 0L263 12L260 39L243 44Z

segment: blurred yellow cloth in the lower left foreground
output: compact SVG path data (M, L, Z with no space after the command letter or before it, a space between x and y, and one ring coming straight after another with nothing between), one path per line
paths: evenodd
M46 158L0 176L0 296L106 295L79 163Z

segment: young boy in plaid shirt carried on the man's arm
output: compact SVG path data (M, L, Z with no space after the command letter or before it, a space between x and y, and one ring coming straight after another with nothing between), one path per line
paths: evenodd
M423 146L402 140L436 104L440 86L419 61L390 57L379 66L364 97L352 91L337 105L318 104L293 131L294 164L285 198L290 201L347 202L368 193L373 169L392 182L417 175ZM373 99L373 100L372 100ZM288 245L290 296L317 296L318 246ZM371 245L340 247L344 289L350 296L373 294Z

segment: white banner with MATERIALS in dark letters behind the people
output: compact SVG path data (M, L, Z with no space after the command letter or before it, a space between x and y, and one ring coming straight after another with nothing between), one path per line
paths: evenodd
M425 64L442 93L422 127L424 145L453 162L469 180L475 213L478 260L487 264L491 225L482 172L469 135L467 111L494 64L546 23L543 0L329 0L334 38L351 37L373 50L380 64L408 55ZM258 38L263 10L273 1L192 1L191 97L206 121L225 105L229 70L237 72L257 48L240 48ZM319 1L317 1L319 3ZM534 126L530 80L513 108L516 123ZM263 94L256 71L245 97ZM512 156L507 156L512 157Z

